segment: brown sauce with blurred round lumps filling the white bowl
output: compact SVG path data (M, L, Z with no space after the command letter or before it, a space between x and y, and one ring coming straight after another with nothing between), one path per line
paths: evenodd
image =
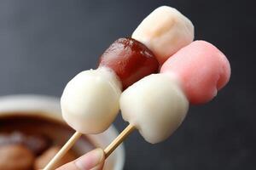
M56 148L61 148L73 133L74 130L65 122L42 116L36 112L33 114L24 112L3 114L0 116L0 169L32 170L37 169L38 165L42 167L48 162L47 159L50 159L46 157L53 155L53 152L57 151ZM73 146L67 156L67 161L93 148L95 145L83 135Z

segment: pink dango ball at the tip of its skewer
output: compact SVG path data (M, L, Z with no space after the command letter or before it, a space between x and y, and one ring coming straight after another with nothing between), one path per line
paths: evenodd
M209 42L195 41L166 60L161 73L177 76L190 104L204 104L230 80L230 63Z

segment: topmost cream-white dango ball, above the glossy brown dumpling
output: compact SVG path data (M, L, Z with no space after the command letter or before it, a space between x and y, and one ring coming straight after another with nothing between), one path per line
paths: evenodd
M176 8L162 6L148 14L131 37L143 42L162 64L193 41L194 26Z

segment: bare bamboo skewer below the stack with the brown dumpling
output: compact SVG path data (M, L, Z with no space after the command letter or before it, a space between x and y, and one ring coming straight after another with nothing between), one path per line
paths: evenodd
M44 170L52 170L53 167L55 167L56 162L60 161L61 158L67 153L70 148L72 148L73 144L76 143L76 141L80 138L82 133L76 132L73 133L73 136L67 141L66 144L61 148L61 150L54 156L54 158L49 161L46 167L44 167Z

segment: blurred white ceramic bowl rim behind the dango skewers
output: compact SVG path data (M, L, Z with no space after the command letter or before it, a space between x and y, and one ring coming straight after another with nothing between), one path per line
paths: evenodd
M44 95L19 94L0 97L0 119L1 116L13 114L18 111L26 111L27 114L39 114L57 121L63 121L61 117L60 99ZM38 112L37 112L38 111ZM105 148L117 136L117 130L111 126L104 133L87 135L94 144ZM121 144L108 157L106 162L113 170L121 170L125 164L125 149Z

